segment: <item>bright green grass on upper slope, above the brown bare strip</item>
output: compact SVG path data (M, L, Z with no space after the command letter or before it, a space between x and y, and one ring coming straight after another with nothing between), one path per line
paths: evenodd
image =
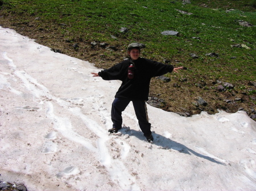
M26 16L40 17L37 27L43 27L46 31L59 29L60 24L65 24L60 30L67 39L82 38L111 43L114 39L110 35L114 35L121 41L123 48L130 41L146 44L144 56L149 58L179 58L184 65L195 67L195 75L210 74L230 81L234 77L236 80L253 80L256 76L256 27L241 27L237 22L246 20L256 25L254 9L251 12L235 10L227 13L222 7L214 10L200 7L200 1L185 6L179 1L3 2L2 14L20 15L19 22L28 22ZM213 2L212 6L218 6L220 1ZM233 2L243 3L242 5L250 3ZM180 14L175 9L192 12L193 15ZM129 32L119 32L121 27L129 28ZM161 32L166 30L178 31L180 36L163 36ZM245 44L250 50L232 48L232 44ZM217 53L219 57L205 56L211 52ZM190 53L196 53L199 59L191 59ZM230 57L237 58L231 60ZM241 70L237 73L232 71L237 69Z

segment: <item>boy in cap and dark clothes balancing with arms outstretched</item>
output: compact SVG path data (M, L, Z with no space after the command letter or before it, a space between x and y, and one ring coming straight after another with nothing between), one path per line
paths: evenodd
M122 112L130 101L133 101L134 111L139 121L144 136L148 142L154 141L151 134L151 124L148 122L146 101L148 100L150 80L152 77L171 73L183 69L183 67L174 68L172 65L165 65L160 62L148 60L139 57L142 45L131 43L128 46L127 54L129 60L122 61L117 65L105 69L99 73L91 73L93 77L101 77L104 80L121 80L122 84L115 94L112 103L111 118L113 128L110 133L117 133L122 128ZM129 67L130 66L130 67Z

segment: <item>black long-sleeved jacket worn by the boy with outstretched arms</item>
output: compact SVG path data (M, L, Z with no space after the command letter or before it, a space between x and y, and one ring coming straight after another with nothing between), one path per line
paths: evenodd
M171 73L174 66L164 63L148 60L146 58L138 58L133 61L135 66L135 74L133 79L127 77L130 60L125 60L110 69L102 70L98 75L104 80L121 80L115 97L129 98L136 100L148 100L150 87L150 79L160 75Z

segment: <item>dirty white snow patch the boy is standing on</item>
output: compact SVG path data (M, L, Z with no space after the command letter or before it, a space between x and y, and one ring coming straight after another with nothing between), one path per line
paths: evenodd
M120 133L120 82L0 27L2 181L28 190L256 190L256 122L245 112L190 118L148 108L146 142L132 104Z

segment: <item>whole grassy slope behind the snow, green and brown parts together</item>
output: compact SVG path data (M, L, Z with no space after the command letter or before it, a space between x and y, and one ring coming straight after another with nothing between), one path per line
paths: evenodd
M100 68L122 61L127 44L138 41L146 45L143 57L189 68L179 74L167 74L172 79L170 83L152 80L150 94L166 100L162 106L167 111L236 112L243 107L250 112L256 104L256 89L248 86L256 76L256 27L242 27L238 20L256 25L256 13L248 6L249 1L229 2L192 1L183 5L180 1L149 0L3 0L0 25ZM226 12L227 9L235 10ZM122 33L121 27L129 31ZM163 36L161 32L166 30L178 31L179 35ZM92 41L108 43L117 50L98 45L92 48ZM250 49L232 48L234 44L245 44ZM199 58L192 58L191 53ZM218 57L205 56L207 53ZM216 91L217 79L233 83L234 90ZM198 96L208 102L206 107L194 105ZM224 101L236 97L242 97L242 102Z

